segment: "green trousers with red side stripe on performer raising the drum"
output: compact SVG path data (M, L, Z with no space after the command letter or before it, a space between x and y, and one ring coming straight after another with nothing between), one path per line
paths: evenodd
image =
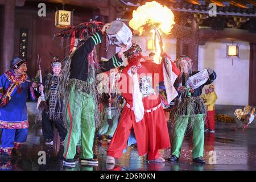
M96 128L94 110L95 101L91 95L71 89L66 114L68 133L63 154L65 159L75 157L76 146L79 144L80 138L81 158L93 158L93 141Z

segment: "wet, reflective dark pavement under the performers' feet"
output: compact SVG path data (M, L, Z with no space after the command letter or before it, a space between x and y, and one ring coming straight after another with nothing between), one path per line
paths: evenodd
M31 125L32 126L32 125ZM96 142L95 153L98 156L98 166L81 166L75 168L63 167L63 146L54 150L53 146L45 145L40 128L30 129L26 144L20 147L21 158L0 160L0 170L49 170L49 171L102 171L102 170L254 170L256 171L256 130L225 129L216 130L215 134L205 133L204 159L206 164L192 163L192 135L184 138L179 163L147 163L146 156L138 156L136 146L128 148L115 165L106 165L106 150L108 142ZM46 164L39 164L40 151L46 152ZM162 157L170 157L171 149L161 150Z

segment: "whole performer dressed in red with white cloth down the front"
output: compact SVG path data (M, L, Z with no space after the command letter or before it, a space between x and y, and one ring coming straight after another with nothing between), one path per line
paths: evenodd
M108 149L106 163L109 164L115 163L114 158L121 158L132 129L139 155L147 154L147 160L164 162L158 150L170 147L166 117L156 90L156 84L163 81L163 66L152 61L142 61L141 51L134 44L125 53L129 65L122 71L119 89L126 105ZM133 80L134 75L138 76L135 77L138 80ZM138 86L139 92L135 93Z

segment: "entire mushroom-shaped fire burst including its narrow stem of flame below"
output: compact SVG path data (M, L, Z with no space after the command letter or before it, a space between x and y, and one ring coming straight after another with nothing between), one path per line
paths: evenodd
M146 2L145 5L138 7L133 11L133 18L129 22L129 26L142 35L143 32L151 32L152 39L155 42L155 63L160 62L160 53L163 44L160 43L161 33L170 34L174 26L174 13L168 7L160 5L156 1ZM158 36L155 36L157 34Z

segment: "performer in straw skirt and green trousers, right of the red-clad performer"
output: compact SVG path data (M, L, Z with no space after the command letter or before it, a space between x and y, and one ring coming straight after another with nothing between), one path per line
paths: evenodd
M179 160L185 130L188 127L189 131L193 130L193 162L204 164L205 160L202 157L207 108L199 96L204 85L211 84L216 79L216 73L209 68L201 72L192 72L192 60L188 56L180 56L176 60L176 65L181 75L175 83L179 98L175 99L175 106L170 115L170 118L174 120L170 160L171 162Z

